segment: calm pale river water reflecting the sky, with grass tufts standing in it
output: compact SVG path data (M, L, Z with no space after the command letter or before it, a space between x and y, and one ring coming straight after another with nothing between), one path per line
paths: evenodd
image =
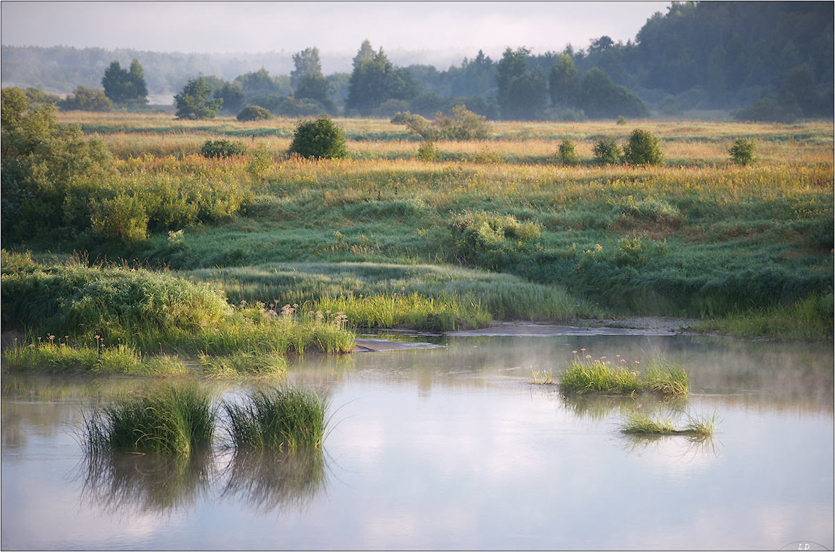
M401 336L401 339L407 339ZM413 338L423 339L427 338ZM676 337L442 337L310 357L324 454L114 456L76 439L137 379L3 377L3 549L809 549L833 547L831 345ZM564 399L530 384L584 347L663 353L686 403ZM224 394L242 386L219 384ZM716 414L712 441L634 439L622 415Z

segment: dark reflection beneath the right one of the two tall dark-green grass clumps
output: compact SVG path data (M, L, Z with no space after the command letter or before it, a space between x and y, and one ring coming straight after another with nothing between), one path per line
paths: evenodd
M321 449L238 450L225 475L222 495L241 499L260 514L305 509L327 482Z

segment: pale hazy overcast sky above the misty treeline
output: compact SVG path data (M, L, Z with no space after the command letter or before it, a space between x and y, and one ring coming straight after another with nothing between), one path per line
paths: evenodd
M634 39L669 2L11 2L2 43L161 52L437 52L460 60L483 48L534 53L585 48L591 38ZM446 53L447 55L443 55ZM459 55L460 54L460 55ZM327 68L325 68L327 69Z

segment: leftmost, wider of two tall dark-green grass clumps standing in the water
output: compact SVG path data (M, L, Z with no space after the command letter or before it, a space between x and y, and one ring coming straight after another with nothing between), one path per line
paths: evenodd
M106 404L84 419L89 454L190 454L211 443L216 409L196 384L164 384Z

